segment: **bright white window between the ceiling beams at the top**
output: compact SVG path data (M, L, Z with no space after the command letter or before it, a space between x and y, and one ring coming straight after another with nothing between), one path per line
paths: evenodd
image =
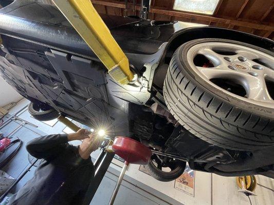
M173 9L212 15L219 0L175 0Z

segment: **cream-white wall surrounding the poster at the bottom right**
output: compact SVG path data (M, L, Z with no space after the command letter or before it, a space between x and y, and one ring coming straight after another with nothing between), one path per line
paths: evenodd
M236 177L223 177L196 171L194 197L192 197L174 189L174 181L157 181L138 169L138 165L130 165L126 175L170 196L184 205L250 205L248 197L238 192ZM250 196L252 205L273 205L274 192L270 189L274 190L274 179L261 175L256 175L255 177L258 186L254 193L258 196Z

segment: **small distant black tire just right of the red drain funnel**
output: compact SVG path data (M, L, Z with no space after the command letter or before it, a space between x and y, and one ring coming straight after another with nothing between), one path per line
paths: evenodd
M176 168L174 170L170 172L163 172L155 167L152 160L150 160L148 165L145 165L145 169L147 169L147 171L153 178L159 181L173 181L181 176L182 173L184 173L186 169L186 162L177 162Z

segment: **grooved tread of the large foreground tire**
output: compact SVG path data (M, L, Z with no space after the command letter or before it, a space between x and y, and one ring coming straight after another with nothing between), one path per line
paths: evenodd
M204 90L182 67L179 55L183 46L177 49L170 63L173 67L178 65L178 73L174 76L169 68L163 87L167 107L174 118L192 134L213 145L234 150L273 146L274 129L270 128L274 126L273 120L248 113Z

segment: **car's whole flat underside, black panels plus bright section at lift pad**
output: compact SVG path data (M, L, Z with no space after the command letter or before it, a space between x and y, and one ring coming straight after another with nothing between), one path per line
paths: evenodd
M145 67L142 85L120 85L97 60L2 35L0 75L30 100L40 100L85 125L131 136L129 103L150 98L153 73L163 47L152 55L127 54L136 69ZM148 62L148 63L145 63Z

